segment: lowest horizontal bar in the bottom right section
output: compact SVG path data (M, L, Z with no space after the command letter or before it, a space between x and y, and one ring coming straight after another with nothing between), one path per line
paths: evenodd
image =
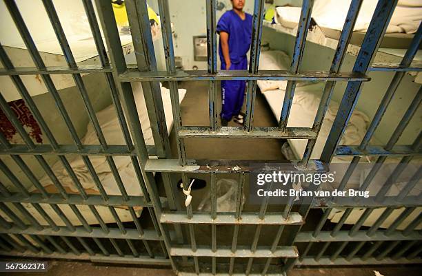
M296 263L296 266L347 266L347 265L365 265L365 264L421 264L422 258L406 259L405 257L400 259L375 259L374 257L368 259L361 259L354 257L349 261L343 257L337 257L332 261L330 257L321 257L318 261L314 257L304 257L301 261Z

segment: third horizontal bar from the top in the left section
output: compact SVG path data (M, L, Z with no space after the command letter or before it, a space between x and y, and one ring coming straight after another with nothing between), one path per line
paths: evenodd
M43 198L41 193L31 193L27 198L21 193L12 193L10 196L0 195L0 202L152 207L152 204L145 202L143 196L129 196L129 200L123 200L121 195L108 195L108 200L103 200L101 195L88 195L87 200L83 200L79 194L68 196L68 199L64 199L59 193L52 193L48 198Z

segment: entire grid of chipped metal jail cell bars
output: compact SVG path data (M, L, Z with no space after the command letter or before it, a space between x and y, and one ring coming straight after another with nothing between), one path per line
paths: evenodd
M352 0L347 20L343 26L338 47L334 54L332 66L329 72L302 72L299 70L303 50L305 49L306 36L310 24L312 14L313 0L304 0L301 10L301 21L299 23L297 39L294 44L292 56L292 65L288 71L259 71L259 54L261 46L261 32L263 24L263 0L254 1L254 14L252 23L252 45L250 55L249 71L230 70L228 72L217 71L217 37L216 37L216 12L217 1L206 1L207 14L207 33L208 33L208 70L206 71L176 71L174 66L174 50L172 44L172 34L170 30L170 10L167 0L158 0L159 13L161 19L161 28L163 34L163 46L165 53L165 72L157 71L157 63L154 56L154 47L152 45L152 36L149 28L148 11L145 1L128 0L125 1L126 8L130 19L130 28L132 41L134 41L135 56L137 58L137 68L128 69L126 67L119 32L112 12L112 6L109 1L96 1L97 14L101 27L104 32L108 54L110 61L106 55L106 47L103 45L99 25L97 24L97 16L92 6L91 0L83 0L83 6L86 10L88 21L97 46L101 66L83 67L77 66L72 57L72 51L66 41L66 36L61 28L59 17L54 10L52 1L43 0L54 32L63 50L63 54L68 61L68 67L46 67L39 56L37 47L35 46L28 28L26 28L19 9L12 0L4 0L12 18L14 19L19 32L26 43L36 67L19 68L14 67L8 58L3 47L0 47L0 59L4 69L0 70L0 74L10 76L14 85L16 85L22 98L30 107L32 114L41 125L43 132L48 136L50 145L34 145L32 140L26 134L25 129L19 125L19 121L10 111L6 100L0 98L0 107L8 116L10 122L17 129L19 134L26 142L25 145L10 145L6 138L0 136L1 149L0 153L9 155L28 176L35 187L41 193L29 193L23 184L17 180L11 173L10 169L3 162L0 163L0 169L10 177L10 181L19 190L19 193L12 193L6 187L0 186L0 209L8 216L9 220L0 217L0 246L1 253L6 255L33 255L42 257L63 257L72 259L91 259L93 262L118 262L118 263L135 263L135 264L166 264L171 265L175 273L179 275L283 275L295 264L301 265L348 265L348 264L395 264L395 263L418 263L421 262L421 241L422 235L420 231L415 231L417 226L421 224L422 218L419 214L416 219L409 224L403 231L396 230L403 220L415 211L416 206L408 206L403 213L393 222L389 229L385 231L379 230L379 226L394 211L396 207L401 206L400 202L396 202L396 206L387 207L376 220L374 225L368 231L361 231L360 228L368 218L370 213L377 208L383 207L382 204L372 202L365 206L348 206L343 217L332 231L323 231L323 226L332 211L329 206L325 209L321 220L312 232L301 231L301 225L305 222L308 212L312 208L321 208L314 202L312 204L303 205L299 211L292 211L292 202L285 206L282 212L268 213L268 200L265 198L260 206L258 213L243 212L241 210L242 190L245 187L246 174L250 172L248 161L240 160L189 160L185 154L184 139L185 138L276 138L276 139L308 139L308 145L302 160L292 160L291 169L322 172L328 169L333 156L353 156L354 161L341 182L341 189L345 187L348 176L356 167L361 156L380 156L379 163L382 163L388 156L402 156L403 162L410 162L414 156L420 155L421 136L415 140L413 145L396 146L401 133L405 129L410 118L412 118L416 108L421 103L421 90L412 101L408 111L396 128L394 136L388 142L388 145L372 146L368 145L368 141L372 137L379 121L381 120L385 109L388 107L392 96L399 85L401 78L405 72L419 71L421 68L410 67L416 50L421 43L422 27L419 27L408 52L406 52L403 61L398 67L385 65L384 67L371 67L372 59L378 50L379 43L385 33L386 26L390 21L394 7L397 1L379 0L374 16L365 35L361 50L356 59L352 72L339 72L341 63L345 56L345 50L350 42L354 23L361 6L361 0ZM0 41L1 42L1 41ZM345 125L348 123L350 114L352 113L356 101L361 92L361 84L364 81L370 81L366 75L369 70L395 71L388 91L385 93L383 101L376 112L374 119L368 129L367 134L361 145L356 146L339 146L339 141L343 135ZM81 74L86 72L105 74L110 91L112 92L112 100L117 110L117 116L121 125L121 130L125 138L125 146L107 145L101 128L98 125L97 118L92 110L92 105L86 89L81 79ZM48 129L43 120L37 106L29 96L25 85L21 81L20 75L40 74L44 83L48 87L48 92L54 97L55 103L59 108L59 112L63 117L66 125L74 139L74 145L58 145L52 132ZM94 126L94 130L99 137L100 145L81 145L72 121L68 117L66 109L61 103L61 98L51 81L51 74L72 74L83 102L89 114L90 123ZM221 80L245 80L248 81L248 90L246 96L246 117L245 127L221 127L217 122L217 87ZM279 120L279 127L254 127L254 100L256 96L257 80L287 80L288 87L286 89L285 99L283 101L283 109ZM178 158L171 159L170 142L165 127L165 118L163 112L163 104L161 94L159 93L159 81L169 81L170 95L172 101L172 112L174 117L174 127L176 129L177 152ZM201 127L183 126L181 122L181 114L179 107L179 98L177 93L177 81L208 81L209 87L209 108L210 108L210 125ZM319 105L318 112L314 119L312 128L287 127L288 116L294 96L294 89L297 81L325 81L323 97ZM325 112L330 102L334 85L338 81L345 81L348 86L339 108L339 112L334 120L330 136L323 149L321 160L312 160L310 155L314 147L314 142L319 134L319 129L323 121ZM148 116L151 120L152 134L154 137L154 147L147 147L143 138L141 124L139 122L137 107L134 103L132 87L130 83L141 82L145 101L148 106ZM123 106L122 106L123 105ZM124 107L124 108L123 108ZM124 110L124 111L123 111ZM131 138L132 137L132 138ZM52 178L59 194L50 194L43 189L37 178L34 177L28 166L21 159L21 155L32 155L41 164L48 176ZM74 176L72 168L68 164L66 155L76 154L83 158L86 166L90 169L92 178L97 184L97 188L101 192L100 195L88 195L83 187L74 176L74 184L78 187L80 195L70 195L63 190L59 180L55 178L52 169L43 159L43 156L52 154L59 156L63 167L68 170L71 176ZM117 180L121 195L107 195L103 191L101 182L96 172L90 164L88 156L101 155L106 156L110 170ZM152 159L150 156L156 155L159 159ZM123 182L119 180L119 171L115 168L114 156L130 156L140 189L143 191L143 197L129 196L125 193ZM211 165L208 165L211 164ZM297 166L300 164L300 166ZM234 170L233 168L236 168ZM399 173L399 171L396 171ZM168 209L163 208L163 204L159 198L157 184L153 173L160 173L167 198ZM192 210L192 206L188 206L184 211L181 208L175 185L172 184L170 173L181 173L184 188L187 189L188 176L187 173L210 173L211 174L211 191L212 204L209 214L196 213ZM216 196L216 178L217 173L237 173L239 175L239 187L236 201L236 212L233 214L217 213L217 196ZM370 178L375 175L376 171L370 173L366 183L370 184ZM414 178L409 182L408 186L399 195L403 199L407 193L413 188L417 180L421 177L421 172L415 174ZM368 187L364 187L365 189ZM386 186L385 191L379 194L378 198L382 198L389 187ZM7 203L7 204L5 204ZM40 225L34 217L26 211L22 203L32 204L37 211L44 217L48 226ZM66 226L57 226L55 222L43 210L40 203L49 204L51 208L61 217ZM70 206L75 215L79 218L82 226L74 226L68 220L68 217L61 211L57 204L67 204ZM90 207L90 211L97 218L101 227L90 226L76 205L83 204ZM23 222L17 215L14 215L10 206L18 209L23 217L30 222L30 225ZM110 213L116 220L116 224L105 224L99 215L96 206L107 206ZM128 229L119 220L115 206L127 206L134 222L134 229ZM142 229L138 218L134 213L134 206L143 206L148 209L148 213L152 217L154 224L153 229ZM338 205L337 205L338 206ZM354 207L365 208L363 215L350 231L343 229L343 224L347 220ZM12 222L10 222L10 220ZM194 233L194 225L205 224L211 227L211 246L198 247ZM220 248L217 245L217 225L233 225L234 232L232 238L232 246L230 248ZM252 225L256 227L254 237L250 246L238 246L237 239L239 237L239 229L243 225ZM259 235L263 226L277 226L277 233L271 246L260 246ZM172 228L170 228L172 226ZM285 231L285 227L290 227L289 231ZM174 231L170 230L174 229ZM183 235L185 229L186 235ZM287 244L280 244L281 236L288 235ZM185 240L188 237L188 240ZM94 241L94 243L90 241ZM115 252L109 252L104 246L104 242L110 242ZM17 243L16 241L19 241ZM123 252L121 245L128 245L130 253ZM138 244L134 241L142 241L145 251L148 255L141 255L138 252ZM158 242L162 248L160 255L154 255L150 248L150 242ZM374 244L370 244L374 242ZM66 244L66 246L63 246ZM93 244L97 247L92 249ZM299 252L296 245L305 244L305 250ZM369 250L363 255L359 255L359 251L363 246L370 246ZM399 246L401 244L402 246ZM312 246L318 247L315 255L310 255ZM352 249L348 255L343 255L343 251L347 246ZM327 252L329 248L334 248L334 253ZM374 255L377 249L383 248L383 252ZM392 251L394 248L400 248L398 251ZM176 262L176 259L182 257L184 262L192 264L188 269ZM212 263L210 270L205 264L199 262L199 258L211 258ZM190 258L193 262L190 262ZM228 258L230 263L224 266L221 259ZM247 259L247 264L243 267L243 272L237 274L234 269L236 261ZM255 265L254 260L264 258L265 264ZM275 266L274 260L280 264ZM227 270L222 272L222 268Z

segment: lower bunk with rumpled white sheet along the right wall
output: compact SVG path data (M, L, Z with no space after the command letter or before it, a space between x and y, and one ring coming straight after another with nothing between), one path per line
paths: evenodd
M260 60L259 60L259 70L288 70L290 65L290 56L285 54L285 52L278 51L278 50L268 50L261 52ZM285 94L285 87L287 85L287 81L257 81L257 85L259 90L263 94L265 100L267 100L274 117L279 120L281 115L282 103ZM313 83L313 82L303 82L298 83L297 87L294 92L294 97L292 100L292 108L290 110L290 116L288 118L288 127L312 127L314 123L314 117L316 115L316 110L318 109L319 103L321 101L321 93L323 91L323 83ZM339 103L335 100L330 100L330 105L328 107L328 111L325 114L325 118L321 125L321 131L319 132L319 136L316 139L316 144L314 146L314 150L311 154L311 159L318 159L321 156L321 152L325 145L325 141L328 138L328 134L330 133L330 129L334 122L334 118L336 116L336 112L338 110ZM370 118L363 112L358 109L355 109L352 116L350 117L350 122L345 129L345 133L341 139L340 145L359 145L365 132L369 126ZM305 139L288 139L288 142L285 142L282 147L283 154L286 158L290 160L298 160L301 159L303 156L303 152L305 151L305 147L308 140ZM379 145L379 139L376 137L372 138L370 141L373 145ZM332 164L334 164L334 170L336 171L335 180L329 186L324 186L322 189L336 189L339 187L341 179L345 174L345 170L347 167L345 164L350 163L352 158L350 157L334 157L332 160ZM370 171L370 167L374 160L368 159L361 159L362 163L368 164L367 166L363 165L358 167L350 180L345 189L359 189L361 186L363 179L365 176L368 175ZM394 170L396 162L398 159L389 158L390 163L385 165L385 169L383 172L378 173L376 178L372 180L368 191L370 194L376 193L381 188L381 185L385 183L386 178L389 176ZM343 165L342 165L343 164ZM389 195L395 195L401 191L403 185L410 180L413 173L416 172L416 167L409 167L409 169L402 173L402 175L394 182L392 189L390 190ZM419 195L421 191L418 189L414 189L410 195ZM365 220L363 225L370 226L372 225L377 217L383 213L385 208L379 208L374 210L372 215ZM397 217L401 211L404 209L397 209L390 215L388 220L381 225L381 227L388 227L392 222L394 222L394 218ZM412 220L416 217L416 215L422 209L416 209L414 213L412 213L406 220L403 222L398 229L404 229ZM354 209L348 220L345 221L346 224L354 224L356 220L359 219L363 209ZM332 222L339 222L341 216L344 213L344 209L334 209L330 217L328 217ZM422 229L422 226L420 226Z

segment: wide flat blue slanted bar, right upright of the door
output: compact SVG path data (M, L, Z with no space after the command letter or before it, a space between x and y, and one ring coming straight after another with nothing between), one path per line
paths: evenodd
M354 63L353 72L365 73L368 71L372 59L378 50L381 38L387 29L388 23L394 12L394 7L397 1L380 0L375 8L374 15L371 19L370 25L366 32L365 38L361 45L361 50ZM341 136L345 131L350 116L352 115L354 106L357 103L359 94L361 93L361 82L349 82L345 89L345 94L341 100L339 111L332 125L332 129L328 136L327 142L323 152L321 153L321 160L325 163L330 163L332 156L336 150L337 145L341 140Z

